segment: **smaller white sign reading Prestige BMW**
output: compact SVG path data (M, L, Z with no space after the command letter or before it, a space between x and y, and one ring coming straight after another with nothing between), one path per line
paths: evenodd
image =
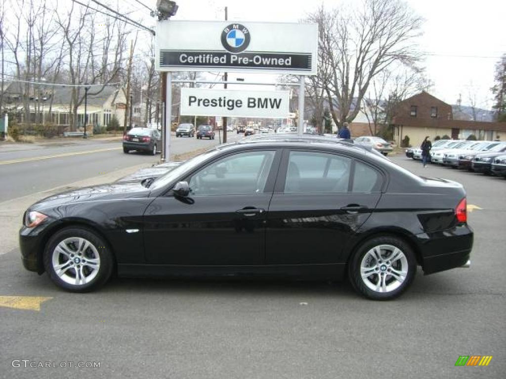
M288 91L181 88L181 114L286 118Z

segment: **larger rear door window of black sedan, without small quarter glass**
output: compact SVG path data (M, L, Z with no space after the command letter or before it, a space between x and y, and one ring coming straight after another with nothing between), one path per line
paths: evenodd
M351 159L335 154L292 151L285 194L348 192Z

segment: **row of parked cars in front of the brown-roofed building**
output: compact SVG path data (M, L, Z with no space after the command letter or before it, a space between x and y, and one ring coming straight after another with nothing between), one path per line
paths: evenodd
M406 149L406 156L421 159L421 149ZM506 177L506 142L439 139L432 145L430 161Z

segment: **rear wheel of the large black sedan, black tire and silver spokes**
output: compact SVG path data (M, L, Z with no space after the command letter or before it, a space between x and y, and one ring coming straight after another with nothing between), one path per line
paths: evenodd
M373 248L380 246L384 247L379 249L380 257L383 260L373 258L375 251L377 251L377 249L374 251ZM386 248L387 246L390 248ZM394 248L398 249L403 256L390 262L389 258L394 252L397 252L393 250ZM364 278L362 278L362 263L364 263L364 268L371 272L371 275ZM394 272L392 270L405 272L404 275L399 275L401 278L404 276L403 280L396 279L394 275L397 274L392 274ZM404 240L393 235L378 236L365 241L355 251L348 264L348 276L353 288L372 300L392 300L400 296L413 281L415 273L416 258L413 250ZM381 281L382 275L383 281ZM381 286L383 290L377 291L378 287L376 290L371 289L371 287L378 285L384 285Z

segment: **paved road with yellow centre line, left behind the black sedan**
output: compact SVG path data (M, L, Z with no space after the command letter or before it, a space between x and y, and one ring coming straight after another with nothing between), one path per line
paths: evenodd
M229 133L228 140L238 137L242 134ZM171 156L218 143L218 136L214 140L173 136ZM0 202L132 165L157 163L159 159L159 155L123 154L119 140L74 139L41 145L0 145Z

